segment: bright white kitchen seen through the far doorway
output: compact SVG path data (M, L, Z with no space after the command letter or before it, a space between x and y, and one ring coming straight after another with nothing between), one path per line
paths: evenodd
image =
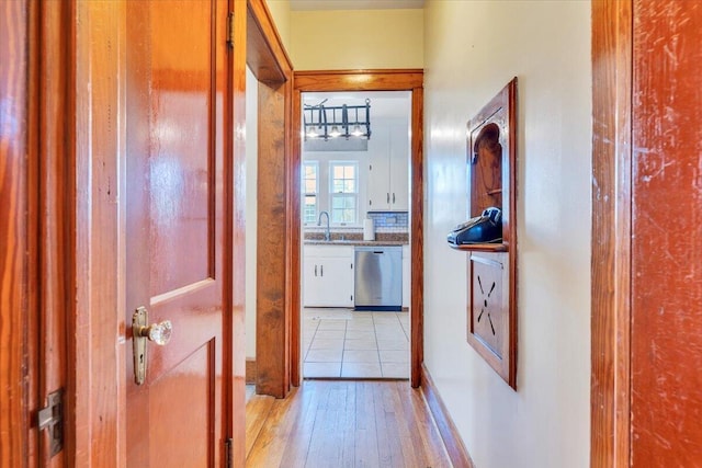
M305 93L303 375L409 377L408 92Z

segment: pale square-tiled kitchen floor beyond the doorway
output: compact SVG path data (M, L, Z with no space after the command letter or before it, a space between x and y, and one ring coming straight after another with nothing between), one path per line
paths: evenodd
M306 378L409 378L409 313L303 310Z

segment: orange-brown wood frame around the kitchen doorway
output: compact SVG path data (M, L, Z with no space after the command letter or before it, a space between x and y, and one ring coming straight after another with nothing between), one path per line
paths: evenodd
M411 256L411 298L410 298L410 383L412 387L421 384L421 365L423 362L423 70L421 69L388 69L388 70L313 70L295 71L293 83L293 114L292 114L292 159L299 167L302 158L302 127L301 106L302 93L312 91L410 91L411 109L411 160L410 160L410 256ZM298 175L294 175L299 179ZM299 183L290 181L290 183ZM295 202L299 206L299 191L296 191ZM293 219L297 232L301 229L299 216ZM297 252L299 255L299 251ZM293 285L299 289L302 272L299 258L297 269L291 272ZM298 295L299 297L299 295ZM292 368L293 385L301 381L301 310L292 315L291 361L296 363Z

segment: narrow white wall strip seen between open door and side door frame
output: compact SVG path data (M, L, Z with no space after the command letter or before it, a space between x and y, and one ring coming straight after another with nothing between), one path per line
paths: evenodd
M246 357L256 358L256 224L258 222L259 83L246 68Z

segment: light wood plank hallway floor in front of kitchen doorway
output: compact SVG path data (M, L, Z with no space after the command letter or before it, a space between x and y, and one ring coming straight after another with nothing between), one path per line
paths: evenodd
M305 380L246 408L249 468L451 467L419 390L392 380Z

